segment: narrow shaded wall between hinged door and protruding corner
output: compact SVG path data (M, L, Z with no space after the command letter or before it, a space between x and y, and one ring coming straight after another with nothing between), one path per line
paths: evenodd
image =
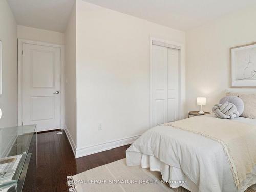
M76 4L65 31L65 126L76 146Z

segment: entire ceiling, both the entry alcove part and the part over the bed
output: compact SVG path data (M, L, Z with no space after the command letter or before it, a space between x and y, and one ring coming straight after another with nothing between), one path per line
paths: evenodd
M75 0L7 0L18 25L64 32ZM188 30L256 5L255 0L84 0L154 23Z

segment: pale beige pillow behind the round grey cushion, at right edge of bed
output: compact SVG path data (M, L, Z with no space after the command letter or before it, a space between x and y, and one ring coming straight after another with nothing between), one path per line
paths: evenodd
M256 94L254 93L233 93L229 92L226 95L238 96L244 101L244 112L241 117L256 119Z

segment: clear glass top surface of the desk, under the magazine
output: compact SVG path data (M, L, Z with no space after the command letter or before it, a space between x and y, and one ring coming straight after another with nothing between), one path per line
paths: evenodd
M36 125L0 129L0 191L18 182L35 129Z

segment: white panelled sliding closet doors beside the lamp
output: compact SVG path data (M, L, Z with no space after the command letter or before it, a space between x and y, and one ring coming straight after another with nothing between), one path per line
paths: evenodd
M179 119L179 50L152 46L152 126Z

